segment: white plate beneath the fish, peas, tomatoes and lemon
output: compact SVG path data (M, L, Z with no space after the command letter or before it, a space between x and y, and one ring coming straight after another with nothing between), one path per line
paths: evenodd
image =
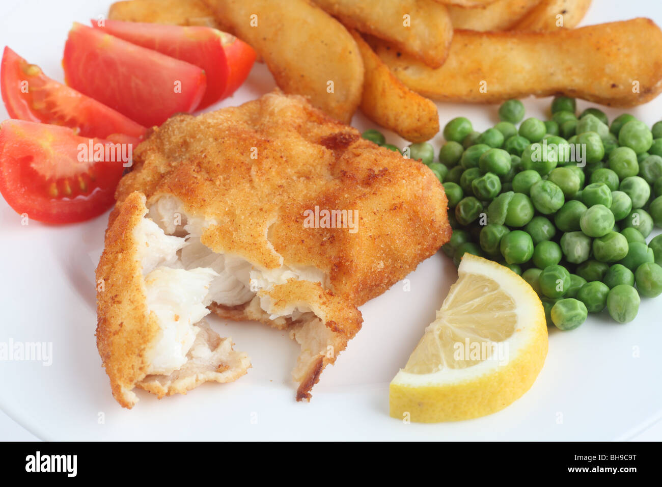
M585 25L638 15L662 25L662 6L639 0L594 1ZM62 80L60 60L71 22L107 12L109 1L3 1L0 45ZM238 105L269 91L273 79L256 65L235 97ZM549 99L528 99L530 116L544 117ZM579 109L588 104L579 103ZM443 124L465 115L484 130L496 105L440 105ZM605 109L610 118L619 112ZM630 113L652 124L662 97ZM7 118L4 107L0 119ZM361 115L354 125L373 127ZM387 134L389 142L404 143ZM438 147L441 137L434 140ZM233 384L205 384L162 401L138 392L132 411L113 400L95 346L94 269L107 215L67 227L21 218L0 201L0 342L52 343L52 364L0 361L0 407L41 439L628 439L662 416L662 298L643 299L637 319L618 325L591 315L579 329L551 330L538 380L512 406L459 423L403 424L388 415L389 380L404 364L455 281L453 264L438 253L402 283L361 307L361 332L336 366L322 374L310 404L294 400L290 371L298 347L283 332L256 323L213 326L248 352L253 368Z

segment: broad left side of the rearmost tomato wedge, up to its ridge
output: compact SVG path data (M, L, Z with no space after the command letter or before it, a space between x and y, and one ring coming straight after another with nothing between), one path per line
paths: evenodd
M131 44L156 50L171 58L186 61L205 71L207 89L197 109L220 100L228 81L228 61L222 46L222 32L210 27L182 27L106 19L103 25L91 21L92 27L124 39Z

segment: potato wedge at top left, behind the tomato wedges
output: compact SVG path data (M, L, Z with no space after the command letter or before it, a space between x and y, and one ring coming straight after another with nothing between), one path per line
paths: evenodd
M214 15L201 0L120 1L111 5L108 18L125 22L218 27Z

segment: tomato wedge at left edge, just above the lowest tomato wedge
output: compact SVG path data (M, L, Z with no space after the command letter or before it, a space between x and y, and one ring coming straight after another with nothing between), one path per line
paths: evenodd
M5 47L0 66L0 89L13 119L62 125L86 137L124 134L140 138L147 131L111 107L51 80L39 66L28 64L9 47Z

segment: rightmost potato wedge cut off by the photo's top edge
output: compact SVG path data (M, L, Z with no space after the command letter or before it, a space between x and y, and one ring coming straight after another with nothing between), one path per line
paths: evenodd
M575 28L591 7L591 0L543 0L527 13L512 30L557 30Z

